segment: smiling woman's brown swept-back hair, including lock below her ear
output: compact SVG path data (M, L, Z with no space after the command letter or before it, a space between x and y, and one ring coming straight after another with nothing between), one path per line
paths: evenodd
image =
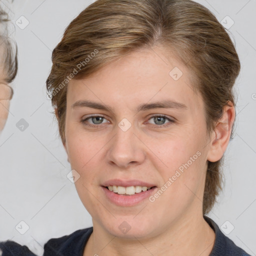
M46 86L63 143L65 84L74 70L79 69L75 79L84 78L135 49L154 45L175 49L194 73L193 88L204 101L207 131L214 130L228 100L235 105L232 87L240 69L234 45L216 17L191 0L97 0L72 20L52 52ZM221 162L208 161L203 214L222 189Z

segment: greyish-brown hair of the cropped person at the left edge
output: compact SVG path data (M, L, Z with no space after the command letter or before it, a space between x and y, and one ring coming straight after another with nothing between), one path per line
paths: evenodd
M8 15L0 8L0 72L10 83L17 74L17 46L8 34Z

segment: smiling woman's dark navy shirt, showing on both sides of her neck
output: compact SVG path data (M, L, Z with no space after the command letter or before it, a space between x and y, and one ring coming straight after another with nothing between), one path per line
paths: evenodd
M215 232L215 242L209 256L250 256L225 236L211 218L203 217ZM44 244L43 256L82 256L92 229L79 229L69 235L48 240Z

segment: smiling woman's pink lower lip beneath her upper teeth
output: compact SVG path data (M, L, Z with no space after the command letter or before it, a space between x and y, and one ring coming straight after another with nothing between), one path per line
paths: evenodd
M117 194L110 190L108 190L106 187L101 186L106 197L108 200L110 200L112 203L118 205L118 206L133 206L144 199L148 198L152 193L154 193L156 187L152 187L149 190L141 191L140 193L135 193L132 195L123 195L123 194Z

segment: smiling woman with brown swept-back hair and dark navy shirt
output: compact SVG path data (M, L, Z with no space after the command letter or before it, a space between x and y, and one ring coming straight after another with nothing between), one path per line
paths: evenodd
M248 255L207 217L240 63L191 0L97 0L66 28L46 85L93 227L44 255Z

